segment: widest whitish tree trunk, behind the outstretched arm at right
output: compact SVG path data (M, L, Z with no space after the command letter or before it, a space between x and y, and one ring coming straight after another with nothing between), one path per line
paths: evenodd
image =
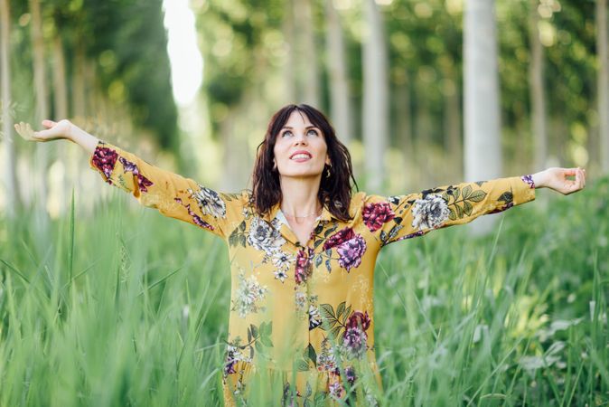
M501 176L499 73L494 1L467 0L464 13L465 178ZM471 232L490 232L497 217L484 216Z

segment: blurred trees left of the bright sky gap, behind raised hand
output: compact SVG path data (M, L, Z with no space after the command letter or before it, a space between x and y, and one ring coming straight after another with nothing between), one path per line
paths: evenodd
M39 127L42 118L72 118L99 137L140 128L161 147L176 147L173 103L161 1L2 0L2 123L5 201L20 197L13 123ZM112 135L112 136L110 136ZM46 177L54 162L78 182L77 151L36 146L23 151L38 180L35 201L46 208ZM33 198L32 198L33 200Z

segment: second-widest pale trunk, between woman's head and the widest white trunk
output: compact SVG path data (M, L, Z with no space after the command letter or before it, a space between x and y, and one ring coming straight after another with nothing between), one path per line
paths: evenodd
M387 49L384 25L374 0L365 0L363 38L363 142L366 150L366 185L378 193L385 178L385 150L389 131Z

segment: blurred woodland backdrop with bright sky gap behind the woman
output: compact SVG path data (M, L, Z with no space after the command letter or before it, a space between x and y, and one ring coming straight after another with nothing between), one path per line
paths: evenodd
M42 118L222 191L248 187L268 119L291 102L331 118L371 193L609 171L606 0L0 5L5 213L56 217L72 188L83 210L110 189L80 147L14 134Z

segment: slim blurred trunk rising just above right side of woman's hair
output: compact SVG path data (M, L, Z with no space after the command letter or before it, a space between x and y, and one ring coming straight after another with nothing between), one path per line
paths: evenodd
M344 144L352 137L349 83L347 76L341 18L332 1L325 2L327 18L327 54L330 76L330 114L336 134Z

